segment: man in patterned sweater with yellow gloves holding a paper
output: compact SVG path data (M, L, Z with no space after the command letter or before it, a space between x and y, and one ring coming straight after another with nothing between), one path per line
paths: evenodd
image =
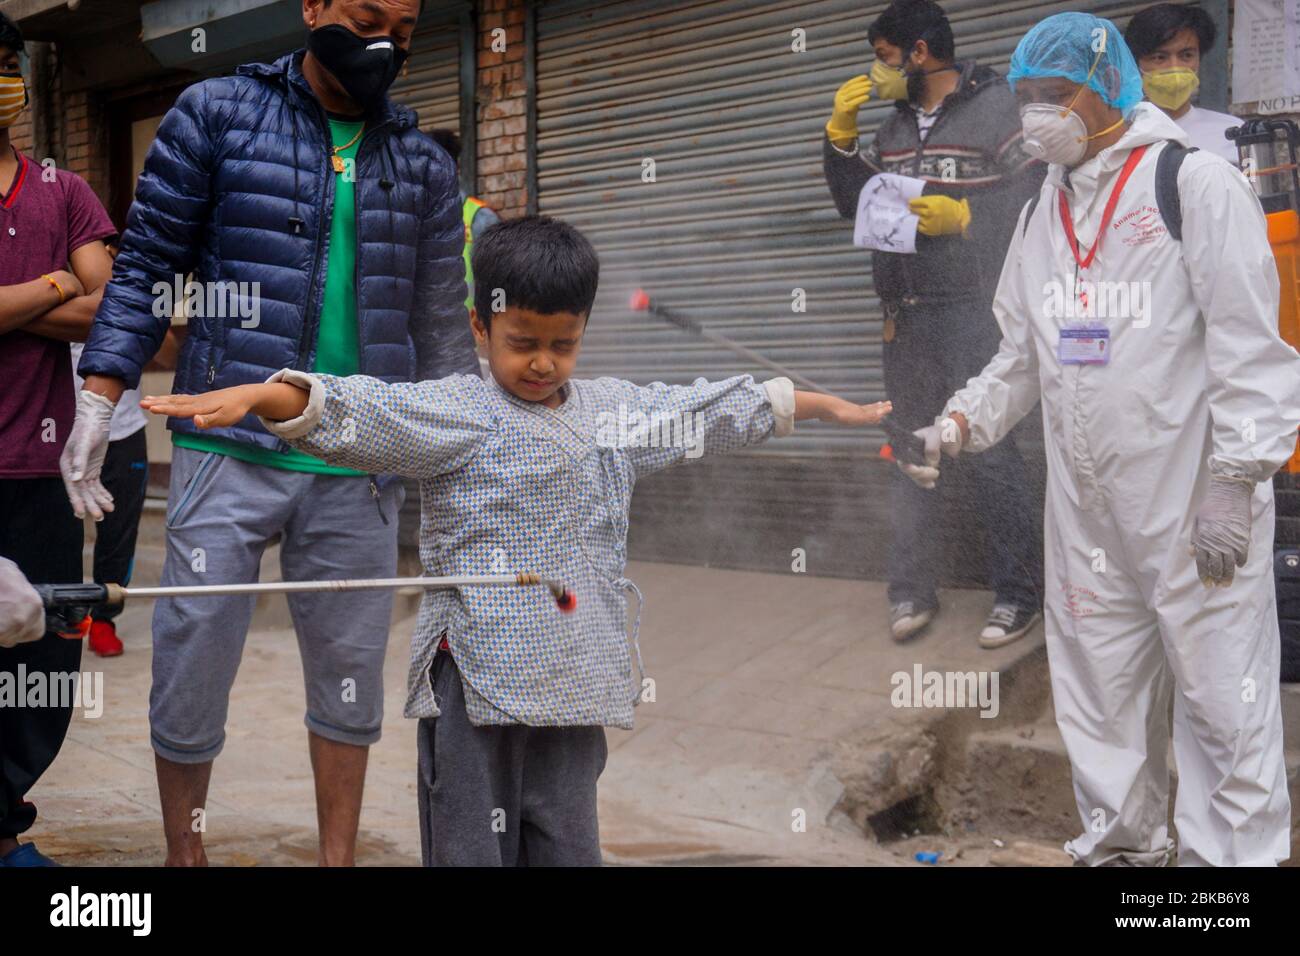
M911 202L920 222L915 254L874 252L872 277L884 306L885 393L893 418L930 425L946 397L984 368L998 346L992 299L1020 208L1045 168L1022 150L1020 117L1006 81L975 62L958 62L953 31L939 4L894 0L867 33L870 75L835 95L826 126L826 179L840 215L852 220L858 195L879 173L924 179ZM875 137L859 137L870 100L892 109ZM1022 636L1041 606L1041 551L1024 463L1014 441L963 459L972 502L985 528L993 610L984 646ZM948 472L945 471L945 475ZM889 630L897 641L922 632L939 610L935 528L939 490L901 473L890 486Z

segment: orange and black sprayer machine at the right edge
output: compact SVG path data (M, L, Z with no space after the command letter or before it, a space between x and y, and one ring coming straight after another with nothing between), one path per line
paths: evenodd
M1242 172L1251 181L1269 221L1269 245L1278 261L1282 308L1278 329L1282 338L1300 350L1300 126L1291 120L1249 120L1230 129ZM1300 472L1300 447L1283 471Z

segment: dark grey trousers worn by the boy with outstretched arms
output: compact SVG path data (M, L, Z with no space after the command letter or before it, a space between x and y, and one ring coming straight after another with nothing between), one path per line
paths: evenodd
M599 866L602 727L474 727L451 654L433 659L441 717L420 721L425 866Z

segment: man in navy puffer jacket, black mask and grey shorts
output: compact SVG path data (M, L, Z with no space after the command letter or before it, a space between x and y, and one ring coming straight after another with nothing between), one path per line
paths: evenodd
M190 316L178 393L282 368L390 382L476 372L455 165L386 98L420 5L308 0L306 51L198 83L166 114L78 367L86 386L61 467L79 515L112 507L99 468L113 403L138 384L178 299ZM277 535L286 580L395 575L396 481L296 453L254 416L211 431L168 425L164 585L254 581ZM391 593L289 605L320 860L350 864L384 713ZM205 862L196 821L251 614L247 597L155 609L150 728L169 864Z

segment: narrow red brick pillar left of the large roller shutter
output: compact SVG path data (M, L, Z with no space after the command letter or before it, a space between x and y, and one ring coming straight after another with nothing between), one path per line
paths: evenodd
M506 31L504 52L493 30ZM502 217L528 208L528 118L524 88L524 0L478 3L477 195Z

